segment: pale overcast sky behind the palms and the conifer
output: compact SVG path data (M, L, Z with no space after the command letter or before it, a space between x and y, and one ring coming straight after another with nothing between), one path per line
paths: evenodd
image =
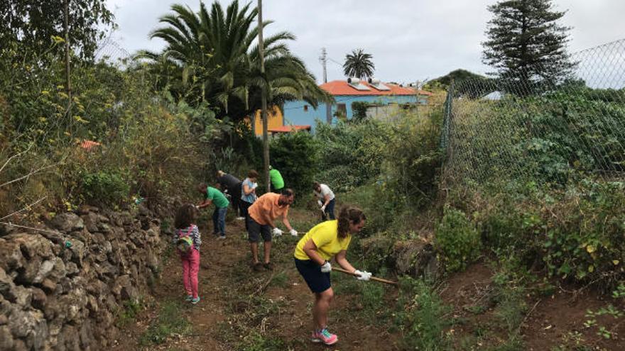
M230 0L219 1L224 8ZM246 4L247 1L240 1ZM256 4L256 0L253 1ZM321 48L342 64L345 55L362 48L373 55L375 77L384 82L415 82L464 68L484 73L481 62L484 30L496 0L265 0L263 18L274 21L266 33L288 30L297 40L290 48L322 81ZM170 5L187 4L197 11L199 0L108 0L119 30L116 43L128 50L161 50L162 40L148 38ZM562 24L570 30L571 52L625 38L625 1L555 0L567 10ZM207 6L212 0L205 1ZM328 62L328 80L344 79L342 67Z

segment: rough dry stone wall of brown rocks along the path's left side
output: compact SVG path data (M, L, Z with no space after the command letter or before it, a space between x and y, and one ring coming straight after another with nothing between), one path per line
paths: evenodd
M0 350L104 350L124 301L158 277L160 221L83 207L40 228L0 228Z

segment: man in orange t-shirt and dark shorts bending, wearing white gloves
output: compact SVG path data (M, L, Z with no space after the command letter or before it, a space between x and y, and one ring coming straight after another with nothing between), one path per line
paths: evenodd
M251 247L251 256L254 270L259 271L262 267L273 269L269 260L271 252L271 235L282 235L273 221L282 217L282 223L289 230L290 235L297 236L297 230L288 223L288 208L293 204L293 190L283 189L281 194L267 193L259 197L254 204L249 206L249 216L247 216L247 233ZM264 261L259 262L259 241L263 240Z

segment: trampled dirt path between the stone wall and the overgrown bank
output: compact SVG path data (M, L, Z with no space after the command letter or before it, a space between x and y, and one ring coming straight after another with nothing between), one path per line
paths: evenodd
M306 216L299 214L303 220ZM376 328L374 321L360 313L360 296L349 291L337 292L330 312L331 330L337 333L339 342L334 347L325 347L308 340L312 294L291 258L298 238L283 235L275 240L273 271L254 272L249 264L251 254L243 221L227 223L226 240L207 233L210 232L202 228L199 277L202 301L196 306L178 302L184 296L181 268L178 257L172 255L165 260L162 278L153 288L150 307L125 328L126 335L114 350L346 351L363 350L365 345L371 350L398 350L396 338L384 326ZM354 284L352 277L333 275L332 279L333 285ZM170 336L160 344L140 345L141 336L158 320L161 306L170 301L181 306L180 313L192 323L192 330Z

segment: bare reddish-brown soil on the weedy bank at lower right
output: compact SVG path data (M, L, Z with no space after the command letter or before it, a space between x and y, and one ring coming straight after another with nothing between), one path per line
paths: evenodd
M473 264L466 271L449 277L442 289L442 298L453 306L455 317L462 321L453 327L455 340L479 335L475 338L477 347L463 350L495 347L508 338L509 330L502 325L496 303L488 301L493 274L486 264ZM594 318L596 325L589 328L584 325L593 319L586 316L587 311L598 311L611 303L623 311L625 306L609 296L591 289L555 286L555 291L546 296L527 294L525 302L527 308L519 330L523 350L553 350L555 347L562 347L560 350L625 350L624 316L598 316ZM484 311L472 310L476 306L485 306ZM609 330L612 337L598 335L600 326ZM456 345L460 348L460 342Z

